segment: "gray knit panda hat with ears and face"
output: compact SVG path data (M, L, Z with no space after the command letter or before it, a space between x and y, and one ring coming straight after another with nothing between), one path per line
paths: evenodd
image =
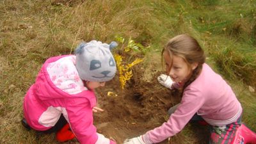
M116 42L102 44L100 41L82 42L75 51L76 68L84 81L105 82L113 79L116 73L116 63L111 49Z

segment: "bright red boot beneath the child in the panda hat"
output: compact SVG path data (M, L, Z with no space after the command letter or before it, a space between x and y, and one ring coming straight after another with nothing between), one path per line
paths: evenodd
M72 140L76 138L75 134L70 130L69 124L65 124L60 131L56 133L56 139L60 142Z

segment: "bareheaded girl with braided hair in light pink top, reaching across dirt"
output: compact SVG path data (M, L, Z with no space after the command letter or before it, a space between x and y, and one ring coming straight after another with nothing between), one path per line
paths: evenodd
M180 88L182 100L169 109L167 122L124 143L159 143L180 132L190 120L205 120L210 125L209 143L231 143L243 109L230 86L205 63L204 51L195 38L175 36L162 54L167 75L157 79L167 88Z

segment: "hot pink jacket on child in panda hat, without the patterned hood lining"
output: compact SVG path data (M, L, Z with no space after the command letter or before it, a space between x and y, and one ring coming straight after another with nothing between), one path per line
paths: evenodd
M80 143L94 144L98 139L92 113L97 101L95 93L91 90L72 95L63 92L52 83L47 73L47 65L63 57L56 56L45 61L35 84L24 98L24 116L33 129L45 131L58 122L62 113Z

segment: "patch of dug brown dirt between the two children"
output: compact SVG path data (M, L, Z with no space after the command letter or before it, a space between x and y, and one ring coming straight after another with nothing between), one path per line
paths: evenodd
M145 72L142 68L137 67L134 72L136 74L125 90L121 91L118 87L120 86L118 77L108 82L105 88L97 90L99 107L104 109L104 112L94 115L97 132L112 138L117 143L122 143L126 138L140 136L160 126L168 120L168 109L179 102L179 97L172 96L170 90L157 82L157 76L161 72L151 72L152 75L147 76L151 76L151 79L144 79ZM108 97L106 96L108 92L115 92L118 96ZM196 137L196 140L192 138L193 141L189 143L205 143L207 136L204 135L192 136ZM182 139L182 134L177 134L161 143L188 143L182 142L184 141Z

